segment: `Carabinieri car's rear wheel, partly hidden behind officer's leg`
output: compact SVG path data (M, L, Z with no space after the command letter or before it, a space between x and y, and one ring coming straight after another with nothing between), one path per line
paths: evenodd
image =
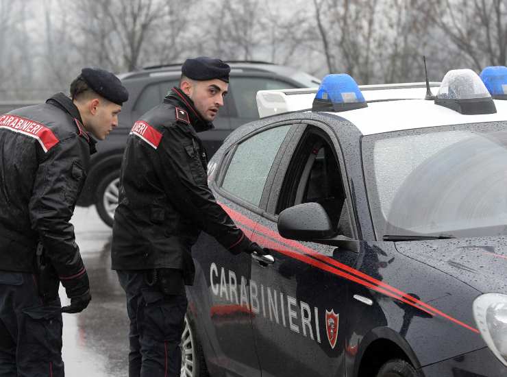
M195 330L190 326L188 316L185 316L185 328L183 330L180 348L182 350L182 369L180 377L209 376L201 343L199 343L199 339L197 339Z

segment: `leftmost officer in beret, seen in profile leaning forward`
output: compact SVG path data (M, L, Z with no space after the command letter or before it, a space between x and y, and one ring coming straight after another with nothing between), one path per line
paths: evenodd
M83 69L70 91L0 114L0 376L64 376L62 312L91 300L69 220L93 137L116 127L128 93L95 68ZM60 282L71 300L64 308Z

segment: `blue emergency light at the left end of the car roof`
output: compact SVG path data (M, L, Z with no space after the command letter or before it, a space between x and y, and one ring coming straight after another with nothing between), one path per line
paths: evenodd
M367 106L358 84L342 73L324 77L313 100L312 111L340 112Z

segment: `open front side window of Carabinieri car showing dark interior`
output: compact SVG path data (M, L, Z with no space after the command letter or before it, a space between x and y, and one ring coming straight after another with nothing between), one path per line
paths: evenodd
M293 172L286 175L289 180L295 179L295 184L284 182L293 192L281 195L285 202L278 206L277 212L301 203L319 203L330 217L334 230L352 238L345 189L331 145L317 135L310 136L304 143L290 163L289 169Z

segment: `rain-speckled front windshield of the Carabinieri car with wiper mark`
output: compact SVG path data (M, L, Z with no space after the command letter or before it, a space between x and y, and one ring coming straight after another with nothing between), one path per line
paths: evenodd
M378 239L507 234L507 123L365 136Z

